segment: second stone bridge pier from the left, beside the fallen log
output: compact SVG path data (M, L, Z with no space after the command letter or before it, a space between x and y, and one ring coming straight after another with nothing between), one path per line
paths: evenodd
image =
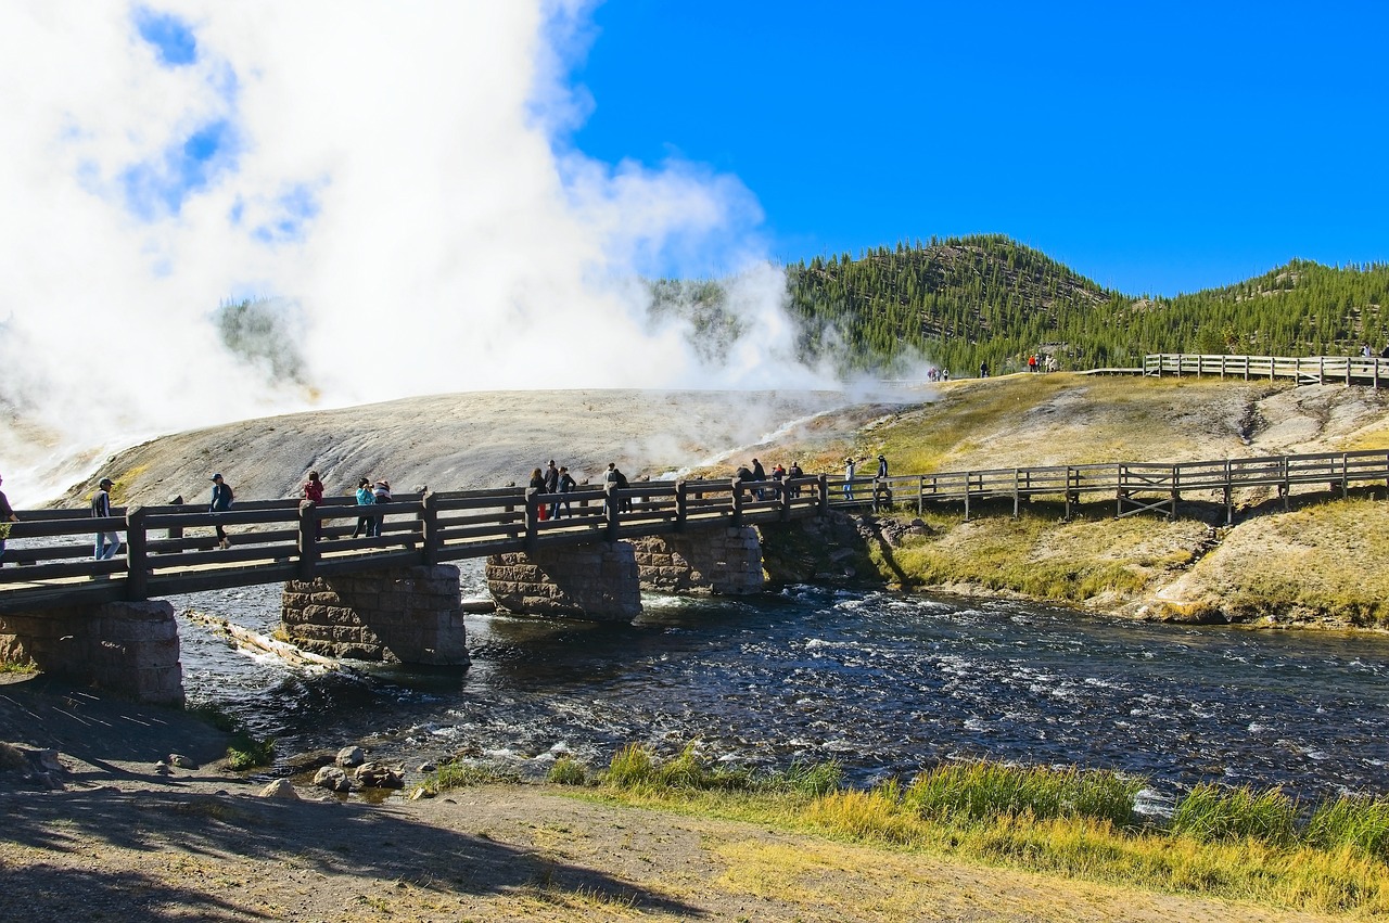
M468 663L458 568L440 564L285 583L281 627L314 654Z

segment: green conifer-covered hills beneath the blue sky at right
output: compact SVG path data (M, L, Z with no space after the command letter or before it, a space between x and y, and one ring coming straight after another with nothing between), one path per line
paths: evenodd
M981 362L1015 371L1033 353L1103 368L1140 365L1146 353L1343 355L1361 343L1378 353L1389 339L1385 264L1293 261L1225 289L1146 298L1007 237L975 236L817 257L786 278L806 358L846 371L890 373L913 353L975 375Z

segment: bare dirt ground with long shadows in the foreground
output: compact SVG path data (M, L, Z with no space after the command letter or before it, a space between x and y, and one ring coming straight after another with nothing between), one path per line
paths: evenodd
M42 677L0 687L0 740L51 747L57 788L0 770L0 919L1311 920L1049 879L549 786L261 797L218 731ZM156 774L169 752L197 769ZM201 762L206 761L206 762Z

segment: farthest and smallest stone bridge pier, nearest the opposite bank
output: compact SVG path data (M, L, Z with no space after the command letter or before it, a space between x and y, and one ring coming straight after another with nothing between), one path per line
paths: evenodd
M750 595L764 587L763 545L750 526L647 536L632 539L632 547L643 590Z

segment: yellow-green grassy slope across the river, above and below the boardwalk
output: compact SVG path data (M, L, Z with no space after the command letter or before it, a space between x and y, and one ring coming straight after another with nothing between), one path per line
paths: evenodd
M1389 448L1389 398L1345 386L1218 379L1014 375L942 386L931 403L889 412L853 440L790 446L807 471L838 454L890 459L897 473L1114 461L1176 462ZM871 465L871 464L870 464ZM857 522L860 580L903 588L1061 602L1093 612L1189 623L1389 627L1385 487L1272 489L1224 498L1185 493L1176 519L1114 518L1113 500L899 507ZM800 548L806 558L808 548ZM808 568L832 573L829 561ZM838 569L840 573L843 568Z

